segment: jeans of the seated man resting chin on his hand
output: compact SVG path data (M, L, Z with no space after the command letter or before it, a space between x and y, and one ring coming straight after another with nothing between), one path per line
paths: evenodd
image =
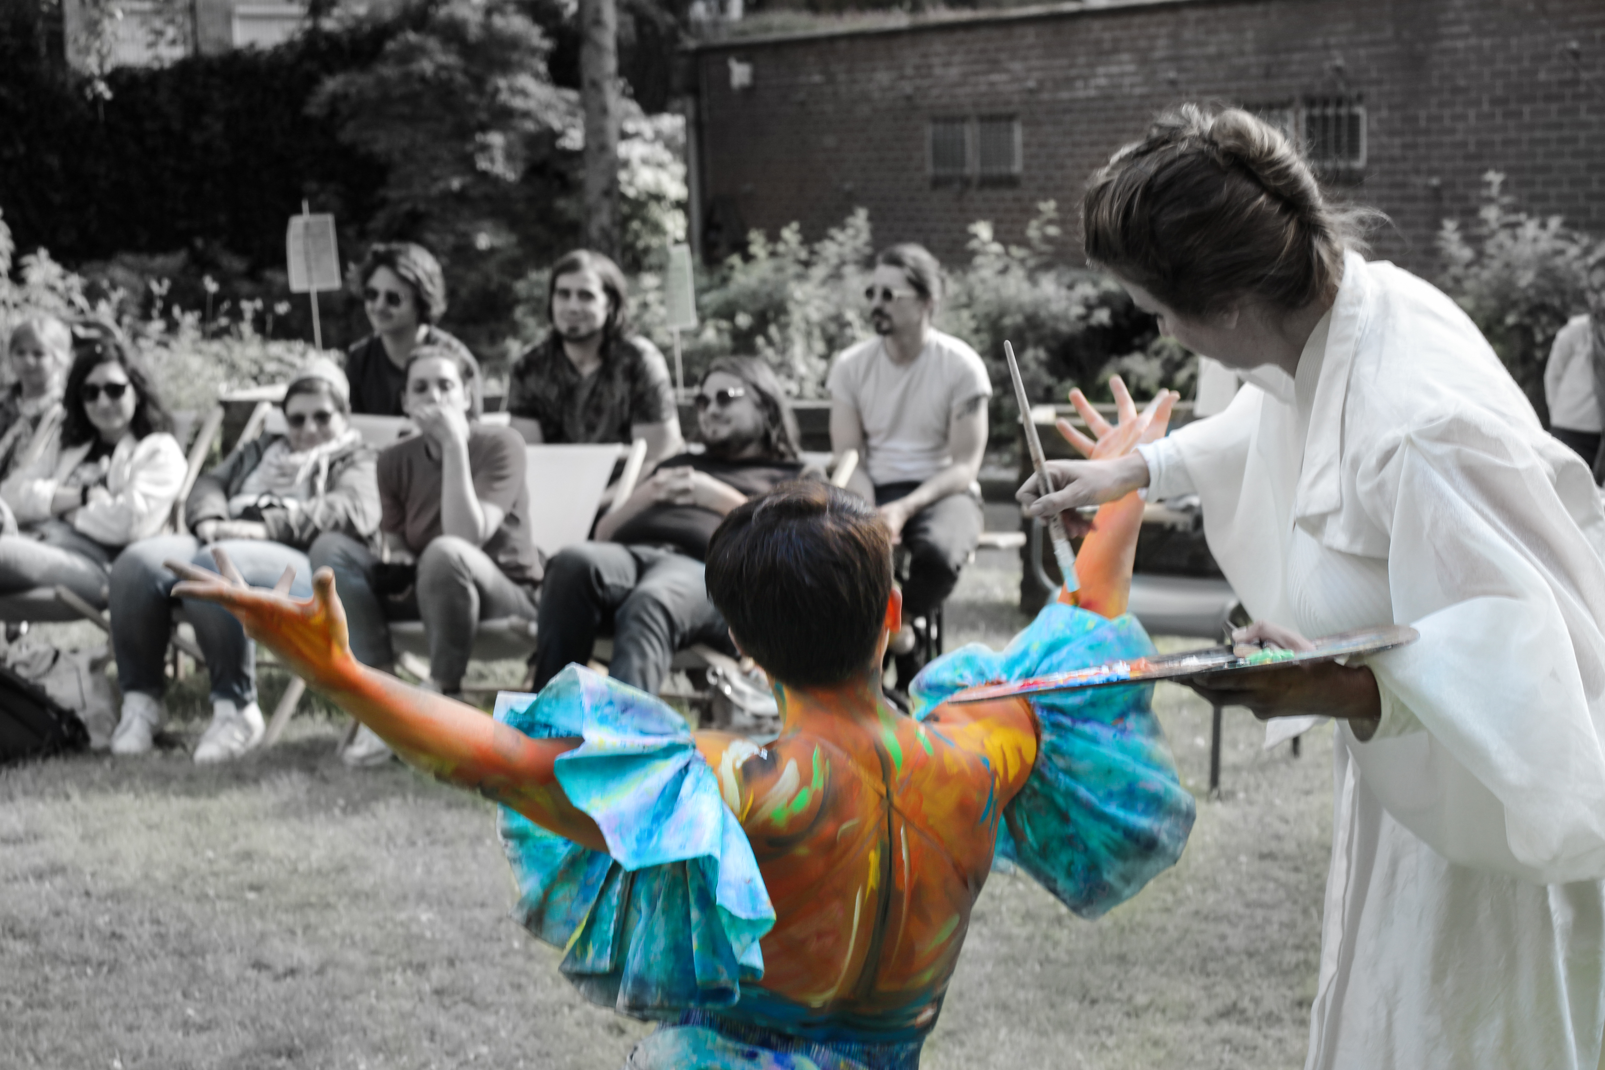
M429 637L429 675L441 691L462 687L480 621L536 616L534 590L515 584L485 550L467 539L438 536L417 557L417 581L409 597L376 590L379 558L351 539L324 533L308 553L313 569L334 569L334 589L345 606L351 653L364 666L395 664L390 621L424 621Z

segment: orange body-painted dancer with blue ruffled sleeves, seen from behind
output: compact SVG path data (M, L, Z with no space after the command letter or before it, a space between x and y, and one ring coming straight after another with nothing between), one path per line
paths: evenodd
M1093 456L1156 436L1173 401ZM1085 403L1083 403L1085 404ZM1088 411L1090 412L1090 411ZM584 995L661 1027L642 1068L918 1065L993 857L1095 918L1181 853L1176 781L1149 687L952 704L960 688L1152 651L1125 614L1143 502L1104 505L1061 592L1002 653L966 646L884 701L900 626L873 509L791 483L721 525L708 590L775 682L780 738L692 733L648 696L579 666L496 720L358 664L327 573L311 602L177 565L398 754L502 804L518 916L565 948ZM220 561L223 571L230 568ZM1079 598L1079 605L1075 600Z

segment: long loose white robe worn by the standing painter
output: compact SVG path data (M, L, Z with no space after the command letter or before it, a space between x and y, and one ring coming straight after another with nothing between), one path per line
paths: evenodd
M1393 265L1350 253L1297 377L1268 371L1141 448L1149 494L1199 492L1255 618L1420 630L1367 663L1375 738L1337 733L1306 1065L1594 1070L1605 513L1589 468L1461 308Z

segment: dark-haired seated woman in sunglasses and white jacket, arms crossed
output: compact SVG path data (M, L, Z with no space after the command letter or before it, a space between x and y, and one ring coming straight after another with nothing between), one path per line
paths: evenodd
M59 584L104 606L112 558L162 529L186 465L117 330L91 326L74 353L59 441L0 483L24 528L0 536L0 594Z

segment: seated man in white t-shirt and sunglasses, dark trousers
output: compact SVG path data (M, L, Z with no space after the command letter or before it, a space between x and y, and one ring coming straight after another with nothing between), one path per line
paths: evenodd
M923 247L883 250L865 298L876 337L831 364L830 446L859 451L847 489L875 502L910 552L904 629L892 640L907 690L920 669L912 622L952 594L981 537L976 475L992 380L973 348L931 327L942 273Z

